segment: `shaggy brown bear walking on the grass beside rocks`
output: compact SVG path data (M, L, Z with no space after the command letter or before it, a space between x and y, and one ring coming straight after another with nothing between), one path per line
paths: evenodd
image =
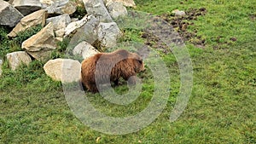
M82 84L91 92L98 92L97 84L119 84L119 78L136 83L138 72L145 70L143 59L136 53L118 49L112 53L98 53L82 61Z

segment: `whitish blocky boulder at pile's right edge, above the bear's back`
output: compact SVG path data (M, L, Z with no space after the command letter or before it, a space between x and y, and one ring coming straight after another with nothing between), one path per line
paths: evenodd
M115 46L119 35L120 30L115 22L101 22L98 26L98 37L103 47L111 48Z

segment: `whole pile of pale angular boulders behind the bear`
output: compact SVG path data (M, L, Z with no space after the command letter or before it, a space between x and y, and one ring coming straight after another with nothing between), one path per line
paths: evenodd
M87 14L78 20L73 18L78 6L84 6ZM92 45L113 47L120 35L115 19L127 14L126 7L135 7L133 0L0 0L0 25L13 27L8 37L17 37L32 26L42 26L42 30L29 37L20 47L24 51L7 54L9 66L15 71L20 64L28 65L32 60L45 62L44 72L49 77L64 83L78 81L80 63L78 60L49 60L64 37L73 37L79 43L73 46L73 55L83 59L99 51ZM80 37L75 37L79 33ZM1 61L1 65L2 65Z

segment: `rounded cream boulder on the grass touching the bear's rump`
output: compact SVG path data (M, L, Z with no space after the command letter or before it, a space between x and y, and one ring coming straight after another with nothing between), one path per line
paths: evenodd
M55 59L44 65L44 72L62 83L77 82L81 78L81 64L78 60Z

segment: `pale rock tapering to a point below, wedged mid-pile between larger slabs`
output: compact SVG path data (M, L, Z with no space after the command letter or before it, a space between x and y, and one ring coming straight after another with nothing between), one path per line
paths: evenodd
M63 37L65 34L65 28L71 22L71 19L68 14L61 14L46 20L46 24L51 22L54 27L54 32L56 37Z

